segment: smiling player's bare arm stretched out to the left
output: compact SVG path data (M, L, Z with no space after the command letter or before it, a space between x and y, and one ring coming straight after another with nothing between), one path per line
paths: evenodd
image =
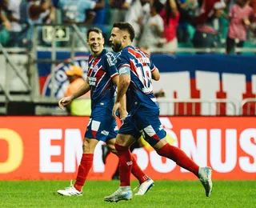
M90 90L90 85L89 85L89 78L86 78L86 81L78 88L78 90L74 93L71 94L70 96L67 96L65 98L62 98L58 102L58 106L63 109L64 106L70 104L71 101L73 101L75 98L79 98L83 94L86 94Z

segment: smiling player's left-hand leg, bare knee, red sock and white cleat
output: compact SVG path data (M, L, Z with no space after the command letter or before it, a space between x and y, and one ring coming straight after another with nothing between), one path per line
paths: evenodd
M78 166L78 174L74 186L71 184L70 187L64 190L58 190L58 194L64 196L81 196L82 187L86 182L86 177L89 174L90 168L94 160L94 149L98 144L98 140L94 138L84 138L82 145L82 158L80 165Z

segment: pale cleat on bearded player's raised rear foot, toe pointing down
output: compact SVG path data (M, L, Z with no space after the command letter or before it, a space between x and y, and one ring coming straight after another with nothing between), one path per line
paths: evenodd
M198 178L205 187L206 197L210 197L210 193L213 189L213 182L211 182L212 170L210 167L199 167Z

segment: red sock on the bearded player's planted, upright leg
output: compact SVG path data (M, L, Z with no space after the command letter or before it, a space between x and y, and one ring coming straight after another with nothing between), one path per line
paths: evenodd
M133 164L130 149L117 143L114 144L114 147L118 151L120 186L130 186L130 172Z

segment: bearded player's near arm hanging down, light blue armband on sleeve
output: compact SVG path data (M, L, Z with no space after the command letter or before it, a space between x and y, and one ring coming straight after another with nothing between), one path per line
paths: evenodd
M114 118L117 118L115 112L121 108L122 98L126 94L126 91L129 85L130 85L130 68L127 66L124 66L119 70L118 94L112 110L112 116Z

